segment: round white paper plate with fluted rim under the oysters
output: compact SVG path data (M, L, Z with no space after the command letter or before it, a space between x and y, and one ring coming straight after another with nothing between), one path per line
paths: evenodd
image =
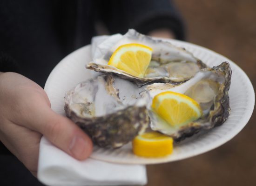
M230 63L233 73L229 90L231 114L228 120L222 126L208 132L195 134L180 144L175 144L173 153L164 158L138 157L132 153L131 144L117 150L94 146L91 158L125 164L155 164L185 159L221 146L232 139L247 124L253 112L255 94L253 86L243 70L231 60L202 46L177 40L170 41L176 46L186 48L208 66L216 66L223 61ZM52 109L56 113L65 115L63 98L66 91L81 81L97 75L94 71L85 68L86 63L91 61L90 52L90 46L84 46L74 51L61 60L49 75L45 91L51 101Z

